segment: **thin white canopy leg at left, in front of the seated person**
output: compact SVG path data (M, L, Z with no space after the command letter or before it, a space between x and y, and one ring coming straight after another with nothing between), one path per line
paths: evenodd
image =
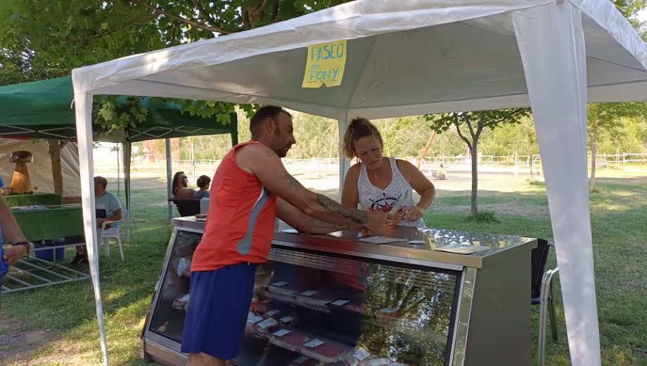
M77 141L79 146L79 170L81 175L81 197L83 204L83 226L89 258L90 275L94 287L96 318L101 332L101 353L103 366L108 366L108 344L103 325L103 303L101 302L101 284L99 282L99 262L96 242L96 217L94 211L94 166L92 160L92 95L75 94L75 115L77 122Z

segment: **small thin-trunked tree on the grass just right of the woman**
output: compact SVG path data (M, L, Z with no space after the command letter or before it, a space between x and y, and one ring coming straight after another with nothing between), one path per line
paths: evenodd
M472 195L470 199L470 214L472 218L478 215L478 141L481 133L487 129L495 129L502 124L518 124L524 117L530 116L529 108L513 108L508 110L482 110L479 112L453 112L438 115L425 115L431 123L431 129L437 133L456 127L456 133L465 141L472 157ZM461 131L461 126L467 128L469 135Z

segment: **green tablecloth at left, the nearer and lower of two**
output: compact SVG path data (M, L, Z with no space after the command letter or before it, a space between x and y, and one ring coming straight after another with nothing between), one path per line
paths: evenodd
M79 206L46 207L44 209L11 212L23 229L27 240L56 239L83 235L83 214Z

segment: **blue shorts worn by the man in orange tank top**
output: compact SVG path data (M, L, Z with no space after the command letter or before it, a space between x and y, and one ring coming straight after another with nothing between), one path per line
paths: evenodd
M203 352L221 360L238 355L257 267L239 263L191 273L191 303L184 318L182 352Z

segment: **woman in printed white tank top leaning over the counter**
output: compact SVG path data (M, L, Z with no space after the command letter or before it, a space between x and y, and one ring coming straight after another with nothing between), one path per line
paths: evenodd
M383 157L380 132L368 119L352 119L344 135L344 153L358 164L350 167L344 182L342 205L367 211L399 214L391 224L425 228L423 212L433 202L433 183L413 164ZM412 190L421 196L414 204Z

